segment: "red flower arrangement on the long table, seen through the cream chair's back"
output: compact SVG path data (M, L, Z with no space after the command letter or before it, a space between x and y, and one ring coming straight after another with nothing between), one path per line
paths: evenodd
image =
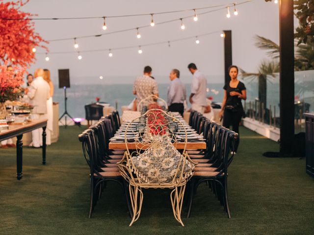
M162 109L157 103L152 103L148 106L149 110L152 109ZM159 110L152 110L150 111L150 115L147 118L147 124L150 127L150 133L152 135L164 135L166 134L166 118L164 117L163 113Z

